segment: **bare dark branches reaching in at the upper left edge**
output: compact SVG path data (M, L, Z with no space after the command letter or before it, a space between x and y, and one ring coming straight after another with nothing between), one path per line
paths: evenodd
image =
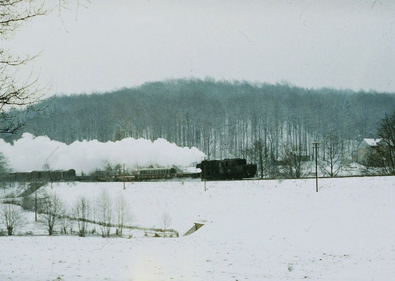
M75 0L76 9L85 6L89 0ZM62 10L69 9L67 0L58 0L59 15ZM32 18L47 15L55 7L46 5L44 0L1 0L0 1L0 39L8 40L15 36L18 28ZM61 18L61 16L60 16ZM24 82L15 78L21 65L34 59L35 55L21 58L10 50L0 46L0 133L15 133L23 125L18 111L14 107L34 105L43 98L43 90L32 75Z

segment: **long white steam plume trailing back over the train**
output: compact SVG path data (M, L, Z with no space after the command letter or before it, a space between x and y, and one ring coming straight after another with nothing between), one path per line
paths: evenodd
M163 138L156 141L124 138L122 141L75 141L70 145L52 141L47 136L23 133L22 138L6 143L0 138L0 152L8 159L14 171L42 170L48 163L51 169L75 169L77 174L102 169L111 165L126 164L129 169L138 166L190 166L200 162L204 154L197 148L180 148Z

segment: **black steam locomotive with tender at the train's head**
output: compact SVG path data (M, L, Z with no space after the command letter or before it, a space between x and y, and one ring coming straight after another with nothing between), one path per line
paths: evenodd
M246 159L204 160L196 165L201 169L201 179L220 181L253 178L257 165L247 164Z

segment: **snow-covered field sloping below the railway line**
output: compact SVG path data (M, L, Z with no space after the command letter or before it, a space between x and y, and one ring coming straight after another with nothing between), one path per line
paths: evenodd
M54 184L69 205L121 192L139 226L160 228L163 214L180 235L204 226L178 238L0 237L0 280L395 280L395 177L319 183Z

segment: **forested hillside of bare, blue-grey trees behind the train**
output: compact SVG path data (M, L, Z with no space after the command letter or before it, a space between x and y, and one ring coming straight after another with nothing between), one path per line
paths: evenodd
M290 146L311 155L312 141L348 143L375 137L377 122L395 108L395 95L288 84L178 79L111 93L58 96L22 112L24 132L56 141L166 138L210 157L244 157L254 143L281 154ZM324 149L325 150L325 147Z

